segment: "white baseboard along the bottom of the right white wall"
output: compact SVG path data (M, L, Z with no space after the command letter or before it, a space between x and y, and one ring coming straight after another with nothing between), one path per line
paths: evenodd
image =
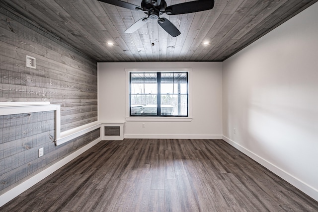
M269 161L265 160L264 158L258 156L257 154L251 152L250 150L246 149L245 147L239 145L239 143L223 136L223 140L238 149L240 152L246 154L248 157L252 158L265 168L269 169L279 177L283 178L308 196L312 197L316 201L318 201L318 190L311 187L310 185L306 184L305 182L301 181L300 179L294 177L290 173L284 171L283 169L275 166L274 164L270 163Z

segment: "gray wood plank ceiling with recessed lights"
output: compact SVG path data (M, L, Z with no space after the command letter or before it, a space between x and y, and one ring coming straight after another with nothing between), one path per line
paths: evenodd
M317 1L215 0L211 10L160 15L180 30L175 38L157 20L124 33L145 14L97 0L1 0L0 5L98 62L150 62L224 61ZM139 6L141 0L128 2Z

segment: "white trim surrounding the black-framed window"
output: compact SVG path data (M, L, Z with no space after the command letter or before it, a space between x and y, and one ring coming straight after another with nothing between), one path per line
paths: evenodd
M126 71L126 121L135 122L191 122L192 121L192 68L138 68ZM130 72L188 72L188 117L131 117L129 116L129 73Z

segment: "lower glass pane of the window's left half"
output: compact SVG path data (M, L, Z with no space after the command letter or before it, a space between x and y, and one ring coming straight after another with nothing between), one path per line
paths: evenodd
M157 95L130 95L131 115L157 115Z

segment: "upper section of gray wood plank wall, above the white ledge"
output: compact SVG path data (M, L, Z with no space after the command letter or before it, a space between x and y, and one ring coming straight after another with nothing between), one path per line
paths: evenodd
M0 102L61 103L62 132L97 120L96 61L4 7L0 30Z

